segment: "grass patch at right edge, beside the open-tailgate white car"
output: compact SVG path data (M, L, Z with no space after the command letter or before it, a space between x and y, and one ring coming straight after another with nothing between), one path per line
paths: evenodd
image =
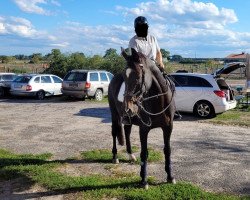
M250 127L250 106L240 106L236 109L229 110L220 115L217 115L215 118L206 120L206 122L211 122L214 124L223 124L223 125L236 125L236 126L245 126Z

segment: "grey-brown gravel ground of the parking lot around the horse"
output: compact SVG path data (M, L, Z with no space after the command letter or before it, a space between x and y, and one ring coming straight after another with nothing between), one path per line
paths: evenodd
M132 143L139 146L138 128L133 127L132 131ZM249 128L211 125L201 123L191 115L184 115L182 120L174 122L171 138L176 180L192 182L207 191L249 195L249 136ZM148 142L149 146L162 149L161 130L151 130ZM44 101L0 99L2 149L15 153L50 152L54 159L66 159L78 156L84 150L111 149L111 145L111 120L107 103L65 100L62 97ZM79 165L64 171L81 175L91 168L99 173L96 166ZM139 172L138 166L133 168ZM164 181L164 163L150 164L148 173ZM43 189L39 186L14 191L12 185L10 182L0 182L0 199L63 198L63 195L43 197ZM37 195L32 195L34 193Z

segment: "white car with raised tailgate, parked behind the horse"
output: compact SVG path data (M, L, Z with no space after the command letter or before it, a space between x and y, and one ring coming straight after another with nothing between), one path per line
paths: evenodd
M237 102L233 90L223 77L244 66L242 63L234 63L212 75L186 72L170 74L176 87L176 109L202 118L211 118L235 108Z

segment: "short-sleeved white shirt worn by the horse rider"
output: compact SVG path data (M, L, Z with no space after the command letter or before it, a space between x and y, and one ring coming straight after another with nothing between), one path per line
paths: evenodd
M158 42L152 35L148 35L147 38L135 35L130 39L128 47L134 48L136 51L143 53L152 60L156 60L156 53L160 51Z

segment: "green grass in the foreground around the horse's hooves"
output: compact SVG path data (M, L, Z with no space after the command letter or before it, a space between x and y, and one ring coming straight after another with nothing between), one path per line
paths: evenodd
M81 156L83 157L83 162L110 160L110 157L108 157L110 154L107 150L86 151L82 152ZM144 190L138 187L137 183L140 179L138 175L132 173L122 174L122 171L120 176L105 176L101 174L68 176L58 172L58 168L68 165L72 160L53 161L49 160L50 158L51 154L19 155L6 150L0 150L0 181L22 178L22 180L26 180L26 184L30 183L30 186L36 183L55 194L67 195L74 193L74 199L238 200L250 198L248 196L237 197L205 192L197 186L184 182L177 183L176 185L159 184L154 179L149 179L150 188ZM108 165L105 162L98 164ZM20 184L23 184L23 182Z

